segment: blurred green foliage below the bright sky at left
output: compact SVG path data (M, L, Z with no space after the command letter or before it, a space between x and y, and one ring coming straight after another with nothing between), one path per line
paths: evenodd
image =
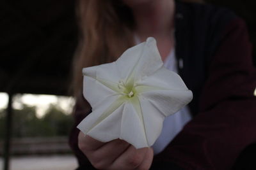
M0 138L4 138L5 111L0 110ZM36 117L36 108L23 104L22 110L13 110L13 137L68 136L73 124L57 106L51 105L44 117Z

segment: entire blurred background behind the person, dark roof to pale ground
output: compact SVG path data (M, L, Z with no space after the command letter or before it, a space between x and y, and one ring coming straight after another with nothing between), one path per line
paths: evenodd
M196 0L195 0L196 1ZM200 0L198 0L200 2ZM256 1L207 0L244 18L256 61ZM0 169L75 169L71 66L76 1L0 2Z

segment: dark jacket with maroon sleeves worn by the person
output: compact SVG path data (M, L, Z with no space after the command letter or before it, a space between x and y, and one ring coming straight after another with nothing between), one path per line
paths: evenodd
M256 71L246 25L229 10L177 1L175 38L179 74L193 91L193 120L154 157L152 169L231 169L256 143ZM81 97L76 125L86 106ZM77 147L78 133L74 128L70 144L79 165L93 169Z

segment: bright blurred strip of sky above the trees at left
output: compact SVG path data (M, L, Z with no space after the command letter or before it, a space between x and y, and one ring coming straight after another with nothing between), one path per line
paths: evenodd
M0 110L6 108L7 103L8 95L0 93ZM42 117L51 104L58 106L58 108L69 114L72 112L75 101L72 97L53 95L17 94L13 97L13 108L22 109L22 103L28 106L35 106L36 115Z

